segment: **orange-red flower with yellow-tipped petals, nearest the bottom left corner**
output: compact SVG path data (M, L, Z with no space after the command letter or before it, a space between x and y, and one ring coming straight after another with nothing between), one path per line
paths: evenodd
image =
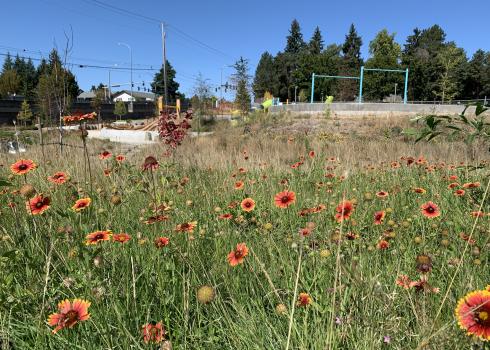
M88 308L90 302L82 299L75 299L72 302L63 300L58 304L58 313L48 317L48 324L52 327L53 333L63 328L72 328L78 322L86 321L90 318Z

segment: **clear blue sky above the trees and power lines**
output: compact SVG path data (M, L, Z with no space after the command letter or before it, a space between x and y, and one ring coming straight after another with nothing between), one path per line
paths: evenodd
M99 5L96 2L99 1ZM152 20L106 10L100 3L124 8L167 22L167 54L177 70L181 91L191 94L201 72L209 83L226 80L228 67L240 55L248 58L253 74L260 55L282 50L293 18L300 22L305 40L319 26L325 42L342 43L351 23L363 38L363 55L376 33L387 28L400 44L415 27L439 24L471 56L478 48L490 50L488 24L470 11L488 12L488 0L379 1L150 1L150 0L24 0L2 1L0 10L0 53L39 58L56 45L65 46L65 33L73 33L74 63L129 66L133 49L134 68L159 68L162 62L160 28ZM185 33L185 34L182 34ZM70 34L71 35L71 34ZM197 42L197 41L199 42ZM204 44L204 45L203 45ZM0 58L0 61L2 59ZM107 83L108 69L72 67L82 89ZM153 72L135 71L135 82L150 82ZM112 83L130 81L129 71L113 71ZM230 96L228 96L230 97Z

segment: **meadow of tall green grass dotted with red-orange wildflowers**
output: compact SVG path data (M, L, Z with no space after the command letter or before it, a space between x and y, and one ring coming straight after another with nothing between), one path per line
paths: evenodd
M488 346L481 153L223 135L4 156L0 348Z

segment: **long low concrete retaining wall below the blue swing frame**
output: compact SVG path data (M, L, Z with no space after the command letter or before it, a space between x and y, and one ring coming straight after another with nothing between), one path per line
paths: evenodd
M317 114L324 113L324 103L299 103L282 106L271 106L269 111ZM401 104L401 103L332 103L330 111L334 115L345 116L372 116L372 115L453 115L463 111L463 105L435 105L435 104ZM468 115L474 113L470 107Z

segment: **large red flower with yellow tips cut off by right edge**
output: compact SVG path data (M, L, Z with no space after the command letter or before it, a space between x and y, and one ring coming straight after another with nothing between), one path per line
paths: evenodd
M467 335L490 340L490 292L477 290L461 298L455 309L456 319Z

